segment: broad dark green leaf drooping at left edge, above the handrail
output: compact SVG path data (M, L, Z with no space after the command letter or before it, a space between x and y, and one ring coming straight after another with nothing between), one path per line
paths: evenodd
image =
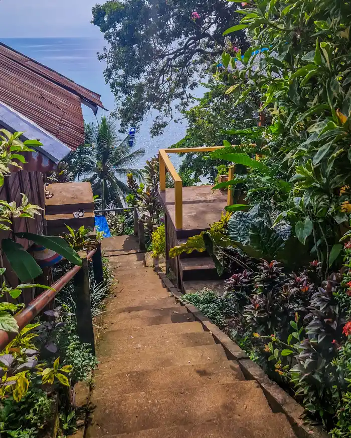
M3 239L3 251L21 281L31 281L43 271L25 248L11 239Z

